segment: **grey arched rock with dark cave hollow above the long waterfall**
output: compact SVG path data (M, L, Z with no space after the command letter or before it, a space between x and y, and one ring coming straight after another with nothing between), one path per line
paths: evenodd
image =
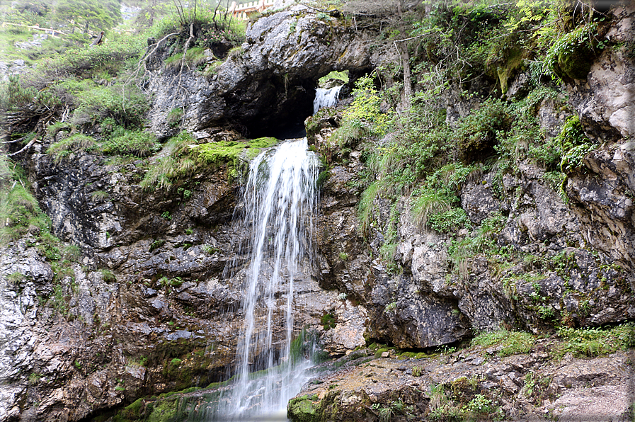
M178 76L156 62L149 81L156 94L152 130L159 137L170 134L168 113L185 108L183 127L193 132L218 125L234 125L251 137L281 134L290 126L302 132L321 76L370 69L370 38L337 11L317 15L305 6L265 14L248 25L246 42L211 76Z

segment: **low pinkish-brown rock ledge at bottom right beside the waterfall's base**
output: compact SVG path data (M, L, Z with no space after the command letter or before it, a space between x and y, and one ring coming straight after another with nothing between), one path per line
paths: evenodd
M528 354L499 357L469 348L433 357L362 350L316 368L287 406L292 421L629 420L629 355L549 359L539 341ZM595 399L590 399L595 397Z

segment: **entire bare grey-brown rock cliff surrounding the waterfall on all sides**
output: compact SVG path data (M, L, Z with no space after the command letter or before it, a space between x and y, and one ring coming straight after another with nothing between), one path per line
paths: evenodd
M610 13L607 43L634 42L632 6ZM162 64L168 52L159 52L147 86L154 93L151 130L161 139L174 135L167 116L177 107L185 110L181 129L201 143L244 142L247 133L270 135L302 121L319 77L348 70L355 79L394 59L368 48L374 26L355 25L337 11L318 16L304 6L265 14L212 76L178 76ZM523 75L510 85L522 85ZM607 48L586 79L563 84L569 96L559 101L576 111L597 147L561 186L529 160L502 176L498 169L472 171L458 188L469 219L458 233L416 224L407 196L394 206L376 198L377 221L362 230L357 207L369 166L362 146L328 157L315 262L303 263L297 280L297 331L307 329L329 355L345 357L326 375L316 372L290 404L292 420L375 421L382 412L405 420L443 409L445 401L434 402L441 397L470 406L490 389L500 400L482 400L498 403L501 418L538 420L551 412L575 420L590 406L585 397L617 397L610 389L619 403L608 408L617 420L627 415L626 352L593 363L571 353L554 361L545 350L560 343L551 339L516 355L501 355L498 346L447 350L500 327L539 334L553 333L555 324L590 328L635 319L635 64L623 50ZM447 120L456 117L453 110L468 113L469 104L448 101ZM325 157L343 108L329 113L307 121L309 141ZM551 139L566 124L554 101L540 103L537 114ZM224 163L197 169L172 190L144 190L144 159L46 154L68 136L47 135L23 164L53 234L81 253L62 258L57 251L59 258L50 259L36 227L0 249L0 420L91 420L116 409L135 420L150 417L161 400L170 401L169 409L194 404L188 409L195 414L218 386L151 397L232 373L248 261L236 224L240 178ZM395 248L386 258L389 225ZM496 252L460 249L474 239L495 244ZM378 346L365 349L372 343L391 347L375 359ZM353 351L359 348L364 352ZM400 349L429 355L399 360ZM529 392L532 380L543 384ZM133 402L137 407L121 411Z

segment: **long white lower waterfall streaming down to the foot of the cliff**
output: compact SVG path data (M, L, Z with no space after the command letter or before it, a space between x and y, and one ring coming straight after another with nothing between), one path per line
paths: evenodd
M302 372L311 364L292 350L293 288L310 252L318 166L307 138L282 143L250 164L244 191L244 224L251 232L244 337L231 397L219 404L222 420L286 415L287 402L306 381Z

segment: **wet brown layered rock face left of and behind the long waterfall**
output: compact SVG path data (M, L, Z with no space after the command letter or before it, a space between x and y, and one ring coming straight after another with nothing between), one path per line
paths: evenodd
M139 160L73 152L55 161L41 153L54 140L30 156L33 188L52 232L81 253L69 258L35 232L1 249L0 418L77 421L224 380L249 259L234 215L238 179L201 167L173 190L144 190ZM309 270L294 286L297 332L325 331L331 312L341 321L328 333L333 351L363 344L363 309L321 290Z

